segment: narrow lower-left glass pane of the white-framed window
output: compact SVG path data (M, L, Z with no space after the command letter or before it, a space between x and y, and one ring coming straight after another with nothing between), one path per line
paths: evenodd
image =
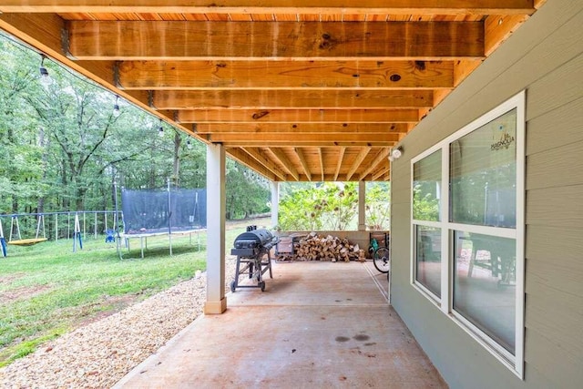
M441 229L415 226L415 279L436 296L441 297Z

